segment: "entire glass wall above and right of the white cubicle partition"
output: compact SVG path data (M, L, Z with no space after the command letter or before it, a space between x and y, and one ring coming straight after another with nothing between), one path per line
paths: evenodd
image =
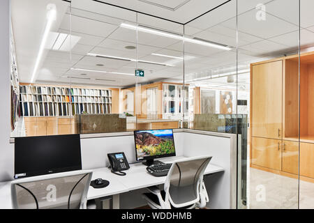
M232 0L184 23L105 2L11 2L12 137L232 132L238 208L311 207L311 1ZM23 28L20 10L47 20Z

